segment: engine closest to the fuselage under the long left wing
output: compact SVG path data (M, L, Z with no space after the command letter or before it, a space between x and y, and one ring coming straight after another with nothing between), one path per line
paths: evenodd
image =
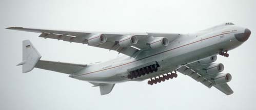
M165 37L160 37L154 39L152 42L149 43L151 48L160 48L160 47L166 47L169 45L169 40Z

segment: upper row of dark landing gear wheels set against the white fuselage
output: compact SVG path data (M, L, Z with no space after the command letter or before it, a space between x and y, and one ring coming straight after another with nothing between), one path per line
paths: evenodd
M150 65L147 67L133 70L130 72L130 74L127 76L127 78L133 79L133 78L144 76L149 73L157 72L158 67L160 67L160 66L159 66L159 64L156 63L156 64L153 64L153 65Z

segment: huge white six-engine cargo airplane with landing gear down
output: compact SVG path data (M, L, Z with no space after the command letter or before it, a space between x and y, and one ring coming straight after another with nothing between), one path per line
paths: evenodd
M41 33L39 37L88 44L125 54L102 63L72 64L40 60L41 55L29 40L23 41L22 72L40 68L68 74L69 77L90 82L100 87L101 95L109 94L114 85L126 81L148 80L155 85L176 78L177 71L201 82L208 88L215 87L226 95L233 93L227 85L232 78L224 73L224 65L215 63L217 55L227 53L250 36L247 28L231 22L193 34L173 33L106 33L82 31L42 30L22 27L10 30Z

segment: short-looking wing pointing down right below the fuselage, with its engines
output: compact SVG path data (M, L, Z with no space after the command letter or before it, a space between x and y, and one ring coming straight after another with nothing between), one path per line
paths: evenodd
M216 56L209 57L198 62L181 66L177 71L201 82L208 88L213 86L226 95L230 95L233 91L227 85L227 82L231 80L231 75L229 73L221 73L224 66L222 64L212 63L215 60Z

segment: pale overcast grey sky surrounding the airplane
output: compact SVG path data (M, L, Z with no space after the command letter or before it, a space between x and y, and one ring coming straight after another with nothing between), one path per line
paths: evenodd
M0 109L255 109L255 11L248 1L0 1ZM9 26L107 32L193 33L224 22L251 30L251 37L218 56L232 74L226 96L188 76L161 82L117 84L101 96L99 88L66 74L34 69L22 74L22 41L29 39L43 60L88 64L117 57L117 52L52 39L37 33L5 30Z

